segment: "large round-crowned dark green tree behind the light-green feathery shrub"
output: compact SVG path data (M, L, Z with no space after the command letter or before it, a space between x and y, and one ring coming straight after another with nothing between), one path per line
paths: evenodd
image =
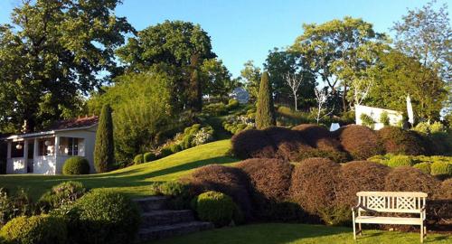
M173 94L177 107L199 110L202 98L203 61L215 58L211 38L199 24L183 21L165 21L137 33L127 45L118 49L118 56L126 71L144 72L153 66L173 70ZM193 80L194 79L194 80Z

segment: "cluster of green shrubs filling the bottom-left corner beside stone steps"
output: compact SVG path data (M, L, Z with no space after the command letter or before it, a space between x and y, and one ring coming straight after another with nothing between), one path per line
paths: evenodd
M28 244L130 243L141 221L136 204L124 195L87 191L77 182L54 186L36 203L24 192L3 192L0 216L0 242Z

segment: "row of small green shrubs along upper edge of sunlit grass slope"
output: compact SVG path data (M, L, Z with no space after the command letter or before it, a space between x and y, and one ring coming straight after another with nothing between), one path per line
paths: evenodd
M174 140L163 145L158 153L147 152L145 154L136 155L134 157L134 163L148 163L157 158L173 155L196 145L212 142L213 134L214 131L211 126L202 127L201 124L194 124L191 127L186 127L184 133L179 133L174 136Z

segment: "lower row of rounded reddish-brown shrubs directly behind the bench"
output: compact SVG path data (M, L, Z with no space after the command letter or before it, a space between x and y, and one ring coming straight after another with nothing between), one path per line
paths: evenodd
M360 191L427 192L429 224L452 220L452 179L441 182L417 168L391 168L370 161L336 164L325 158L308 158L289 164L280 159L254 158L235 167L204 166L183 179L181 185L185 185L186 201L199 199L203 192L210 192L202 195L209 201L224 198L211 191L230 196L245 221L348 224L350 208ZM220 226L240 220L231 217L240 216L231 211L232 203L221 204L221 210L228 210L221 218L219 209L213 205L206 208L193 207L202 220L221 219L215 222Z

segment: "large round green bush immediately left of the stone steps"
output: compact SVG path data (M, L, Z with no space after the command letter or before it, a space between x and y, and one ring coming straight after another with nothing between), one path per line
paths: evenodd
M108 190L95 190L75 202L79 243L130 243L137 236L141 216L136 203Z

